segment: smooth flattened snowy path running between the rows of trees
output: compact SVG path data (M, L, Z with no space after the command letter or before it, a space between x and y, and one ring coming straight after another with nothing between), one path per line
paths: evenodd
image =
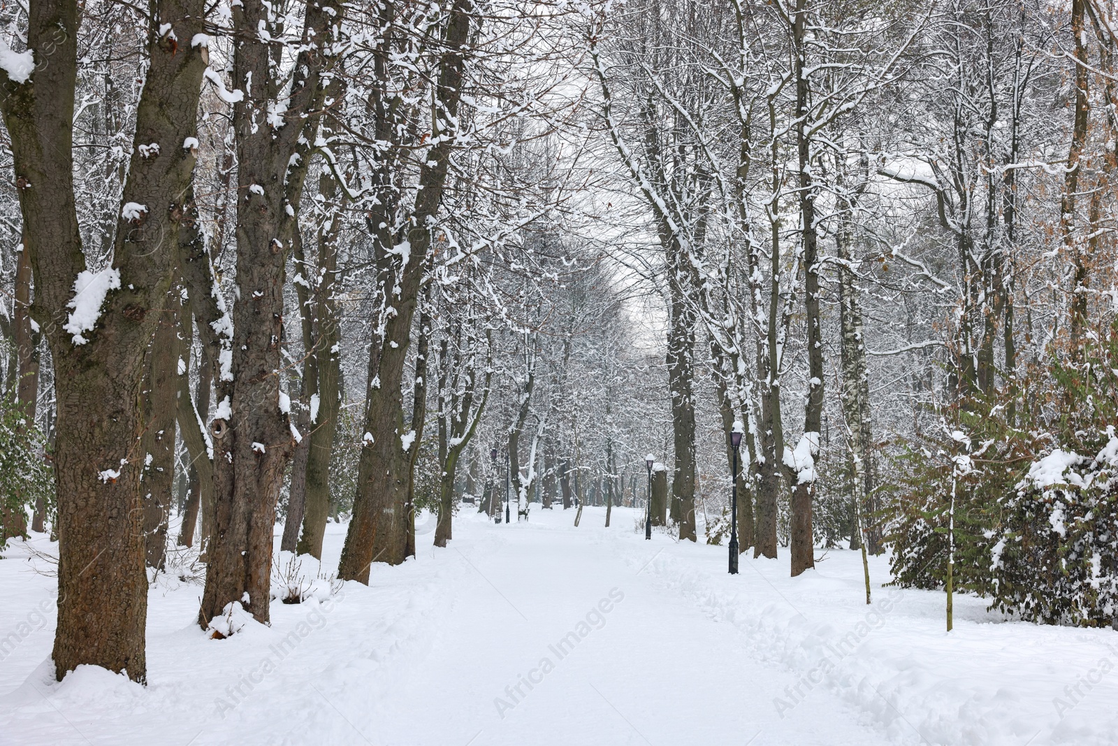
M585 511L579 531L521 525L451 550L470 572L410 686L379 707L387 743L882 743L828 697L812 718L781 720L771 691L794 676L759 664L733 629L623 561L587 526L598 512ZM626 513L617 519L629 528ZM657 538L637 556L652 559ZM390 717L423 699L439 705L418 729Z

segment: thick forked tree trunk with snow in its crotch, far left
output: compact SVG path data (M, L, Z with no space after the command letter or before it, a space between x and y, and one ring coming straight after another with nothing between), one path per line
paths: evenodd
M152 15L173 37L202 31L196 0L161 0ZM149 29L149 66L136 107L134 145L123 204L143 205L117 220L111 290L93 330L75 344L64 329L74 282L85 271L73 182L74 95L80 7L75 0L30 4L27 41L36 68L18 84L0 74L0 107L10 136L31 264L31 315L44 329L56 372L58 488L58 627L53 658L61 678L88 663L146 676L144 621L148 582L140 492L142 431L139 402L143 350L172 274L181 195L195 158L181 148L196 134L202 62L197 48L177 48L171 35ZM178 53L178 54L176 54ZM173 245L173 243L172 243Z

